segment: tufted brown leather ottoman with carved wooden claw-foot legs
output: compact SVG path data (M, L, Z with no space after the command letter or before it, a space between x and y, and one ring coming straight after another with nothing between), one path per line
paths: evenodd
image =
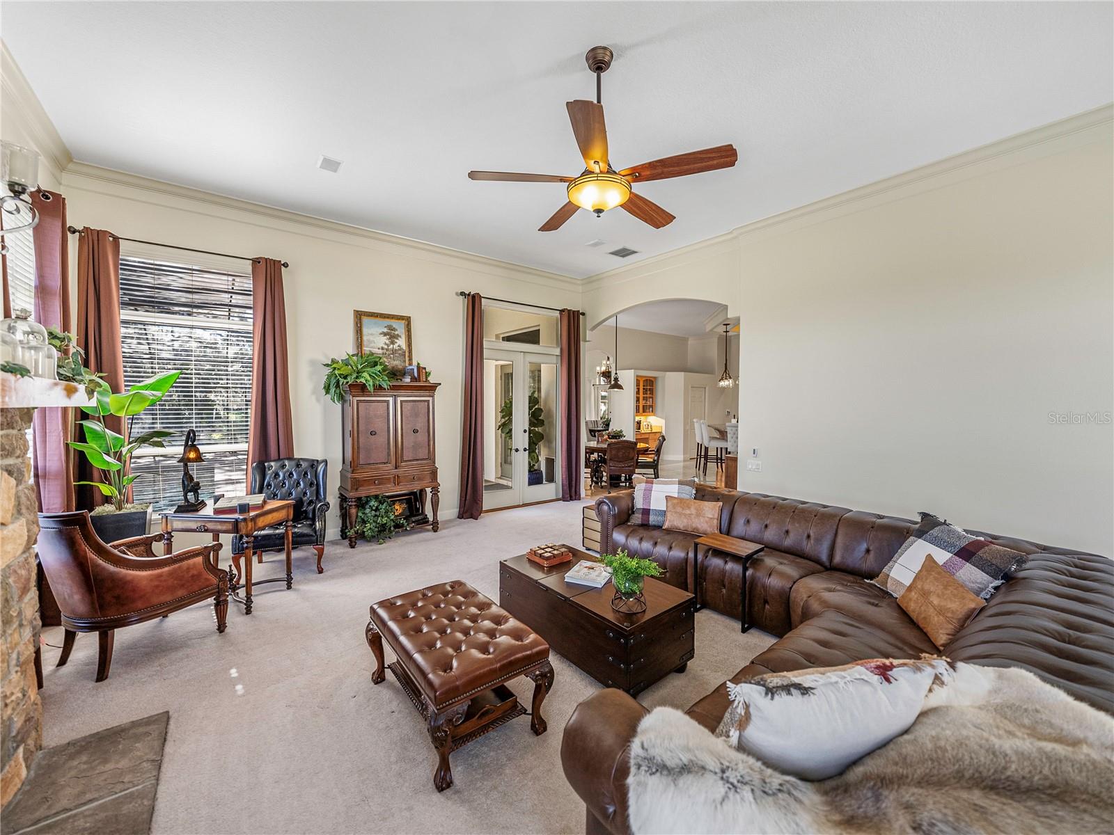
M373 684L384 678L384 638L398 657L391 672L426 718L437 749L438 792L452 785L451 752L526 713L505 685L510 679L534 681L530 729L546 733L549 645L462 580L372 603L365 636L375 654Z

